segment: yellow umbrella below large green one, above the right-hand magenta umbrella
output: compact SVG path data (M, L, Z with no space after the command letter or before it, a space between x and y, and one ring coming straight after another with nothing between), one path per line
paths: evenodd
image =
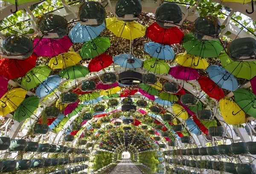
M177 54L175 56L175 62L184 67L191 67L194 69L206 69L209 66L206 59L200 58L198 56L192 56L187 53Z

